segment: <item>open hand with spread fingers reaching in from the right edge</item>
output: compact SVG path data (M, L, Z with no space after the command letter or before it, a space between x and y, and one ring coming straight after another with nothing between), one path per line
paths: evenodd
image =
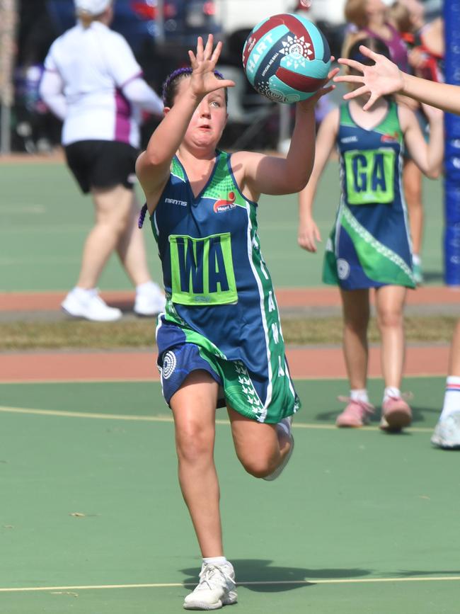
M336 83L362 84L361 87L346 93L343 98L344 100L349 100L350 98L356 98L357 96L362 96L362 94L369 93L369 100L362 108L367 111L381 96L401 91L404 81L401 70L384 55L375 53L364 47L364 45L360 45L360 52L362 52L362 55L373 59L375 62L374 66L366 66L355 59L340 57L338 59L339 64L343 64L362 74L341 74L336 76L334 81Z

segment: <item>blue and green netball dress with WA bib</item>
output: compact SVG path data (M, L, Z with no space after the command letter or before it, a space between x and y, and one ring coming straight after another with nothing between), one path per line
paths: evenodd
M151 215L166 290L156 329L163 395L188 373L207 370L219 405L276 423L299 409L270 275L260 254L257 204L239 191L229 154L195 198L185 169L171 176Z

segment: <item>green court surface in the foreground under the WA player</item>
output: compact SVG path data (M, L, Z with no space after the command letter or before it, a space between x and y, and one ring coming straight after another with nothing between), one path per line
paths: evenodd
M296 450L277 482L243 471L218 414L226 555L241 583L229 611L458 613L458 455L430 446L444 380L405 380L413 428L393 436L375 421L333 426L345 380L297 388ZM381 380L369 390L378 404ZM0 405L0 611L182 611L200 557L159 384L4 384Z

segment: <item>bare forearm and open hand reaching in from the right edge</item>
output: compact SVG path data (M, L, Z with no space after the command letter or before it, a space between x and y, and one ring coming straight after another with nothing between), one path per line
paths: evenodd
M369 93L369 101L363 109L368 110L380 96L401 93L415 100L437 107L448 113L460 114L460 87L427 81L418 76L412 76L398 69L387 57L361 45L363 55L374 60L373 66L366 66L354 59L340 57L339 64L350 67L361 74L343 74L336 76L334 81L340 83L362 84L352 92L343 96L345 100Z

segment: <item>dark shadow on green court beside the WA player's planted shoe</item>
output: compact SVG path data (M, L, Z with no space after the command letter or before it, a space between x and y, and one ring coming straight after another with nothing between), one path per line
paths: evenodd
M237 583L257 593L282 593L284 591L314 586L315 580L362 578L362 576L369 576L369 574L373 573L369 569L275 567L272 566L272 561L262 559L232 559L231 562L235 568ZM196 568L181 569L180 571L190 576L184 582L193 583L198 581ZM252 582L266 582L267 584L246 584ZM284 582L292 582L292 584L282 584ZM296 582L299 582L299 584L295 584Z

